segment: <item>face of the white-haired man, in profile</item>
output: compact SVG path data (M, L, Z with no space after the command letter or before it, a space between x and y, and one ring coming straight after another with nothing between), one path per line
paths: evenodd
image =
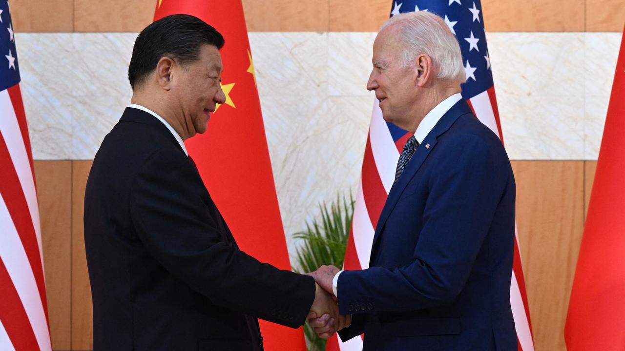
M375 91L384 121L407 128L417 98L415 67L402 62L402 47L394 29L386 27L373 43L373 69L367 90Z

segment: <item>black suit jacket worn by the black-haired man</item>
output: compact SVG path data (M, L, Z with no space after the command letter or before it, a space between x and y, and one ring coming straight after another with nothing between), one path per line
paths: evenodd
M312 277L238 249L174 136L138 109L96 154L84 239L96 351L261 349L255 317L296 328L314 300Z

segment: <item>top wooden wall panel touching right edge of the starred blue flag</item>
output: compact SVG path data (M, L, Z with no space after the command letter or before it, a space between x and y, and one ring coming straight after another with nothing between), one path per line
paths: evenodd
M584 0L482 0L482 7L489 32L584 31Z

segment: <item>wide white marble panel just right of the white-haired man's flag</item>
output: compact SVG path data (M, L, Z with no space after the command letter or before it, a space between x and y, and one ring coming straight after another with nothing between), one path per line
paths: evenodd
M583 159L584 33L489 33L511 159Z

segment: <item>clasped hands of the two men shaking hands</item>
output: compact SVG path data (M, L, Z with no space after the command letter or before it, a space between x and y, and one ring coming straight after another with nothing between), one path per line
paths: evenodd
M308 324L323 339L351 325L351 315L339 315L337 298L332 291L332 279L339 272L333 265L322 265L314 272L307 273L316 284L315 298L307 315Z

